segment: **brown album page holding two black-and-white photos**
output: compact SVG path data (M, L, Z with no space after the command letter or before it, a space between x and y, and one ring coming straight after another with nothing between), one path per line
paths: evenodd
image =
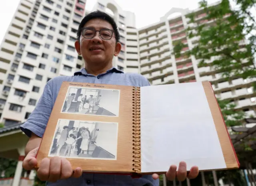
M85 172L132 172L132 86L64 82L37 155Z

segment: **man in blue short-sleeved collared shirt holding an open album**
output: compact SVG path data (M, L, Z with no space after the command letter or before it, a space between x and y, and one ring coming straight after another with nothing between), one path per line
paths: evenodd
M78 55L82 55L85 68L76 72L74 76L58 76L49 80L44 92L28 120L21 126L21 130L30 137L23 161L23 167L31 170L36 166L36 153L44 134L46 124L51 114L54 102L62 82L83 82L96 84L116 84L126 86L150 86L148 80L140 74L124 74L112 67L112 59L121 50L120 35L114 20L103 12L92 12L81 21L75 48ZM177 167L172 165L166 173L169 180L185 180L187 177L186 163L180 162ZM190 169L188 178L198 175L198 167ZM37 170L40 180L46 180L47 186L158 186L158 175L143 175L132 178L125 175L82 173L76 168L74 173L70 162L65 158L44 158Z

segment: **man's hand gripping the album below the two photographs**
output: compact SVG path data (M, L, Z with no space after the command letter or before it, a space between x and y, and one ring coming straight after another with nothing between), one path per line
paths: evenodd
M36 154L38 147L31 150L25 157L22 166L26 170L32 170L37 164ZM79 178L82 175L82 169L76 168L73 173L71 164L65 158L53 157L44 158L37 170L37 176L41 181L56 182L60 179L67 179L73 176Z

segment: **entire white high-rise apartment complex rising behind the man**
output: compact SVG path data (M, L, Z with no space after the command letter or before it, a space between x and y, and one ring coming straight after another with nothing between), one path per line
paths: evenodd
M84 62L74 49L76 29L85 12L85 0L22 0L0 46L0 122L22 122L28 118L42 94L45 83L54 76L72 75ZM212 6L215 6L213 4ZM202 10L190 23L188 9L172 8L160 21L137 29L135 15L124 11L114 0L98 0L94 10L109 13L118 24L122 50L113 65L125 72L141 73L152 85L209 80L217 98L229 99L248 116L255 115L256 94L252 82L221 78L210 67L198 68L194 56L175 58L176 41L191 50L198 38L189 39L188 25L213 24ZM169 18L173 13L180 15Z

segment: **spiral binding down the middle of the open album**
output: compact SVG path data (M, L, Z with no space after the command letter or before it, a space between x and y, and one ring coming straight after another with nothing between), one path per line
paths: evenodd
M140 87L133 87L132 89L132 134L133 134L133 151L134 158L132 169L134 172L140 172Z

